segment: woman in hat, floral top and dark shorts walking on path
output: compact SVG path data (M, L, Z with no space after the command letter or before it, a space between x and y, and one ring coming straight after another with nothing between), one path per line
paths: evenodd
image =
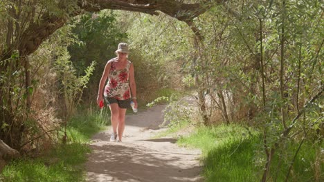
M130 101L134 101L134 107L137 108L134 65L128 61L128 53L127 43L119 43L116 50L117 57L107 62L99 83L97 103L100 105L100 102L103 101L103 94L111 112L113 133L110 141L122 141L125 115ZM108 82L105 91L103 91L107 79Z

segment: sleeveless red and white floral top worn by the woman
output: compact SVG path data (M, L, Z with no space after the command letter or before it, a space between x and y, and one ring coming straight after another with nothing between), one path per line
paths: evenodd
M126 68L116 69L116 59L111 61L109 79L105 86L105 97L113 97L117 100L127 100L130 98L129 89L129 68L132 62L127 60Z

